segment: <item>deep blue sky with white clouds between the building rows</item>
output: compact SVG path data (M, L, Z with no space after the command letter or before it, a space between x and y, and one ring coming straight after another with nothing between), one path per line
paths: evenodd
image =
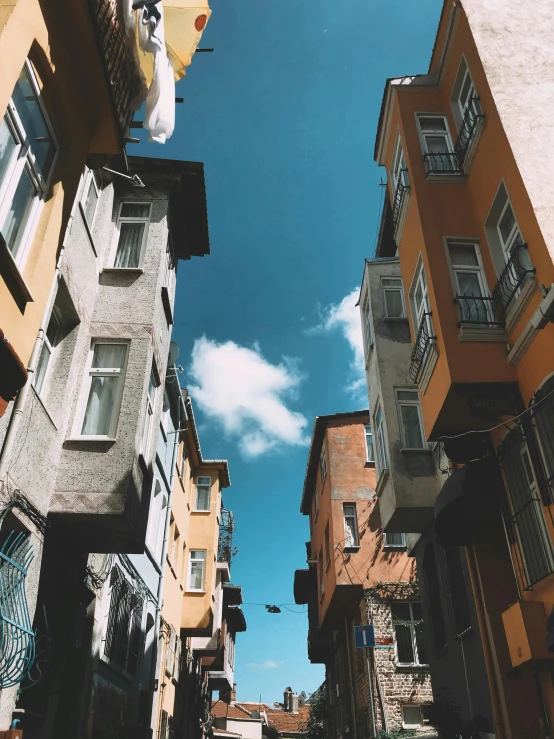
M248 630L240 700L310 693L294 570L314 417L367 406L352 291L373 254L383 176L373 162L387 77L427 71L442 0L211 0L165 146L204 162L211 255L179 265L174 340L205 457L229 460Z

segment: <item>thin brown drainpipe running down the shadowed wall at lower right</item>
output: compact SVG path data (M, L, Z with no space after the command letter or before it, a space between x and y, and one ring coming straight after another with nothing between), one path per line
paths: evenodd
M500 668L496 659L494 639L489 617L485 608L483 584L479 575L479 566L477 564L477 558L475 556L475 548L473 544L470 544L466 547L466 553L469 578L471 580L471 588L475 597L477 621L479 623L479 631L481 632L481 639L483 643L483 656L485 658L489 692L491 696L492 714L495 726L494 733L496 734L497 739L511 739L512 734L508 721L508 711L504 700L504 691L502 689L502 677L500 675Z

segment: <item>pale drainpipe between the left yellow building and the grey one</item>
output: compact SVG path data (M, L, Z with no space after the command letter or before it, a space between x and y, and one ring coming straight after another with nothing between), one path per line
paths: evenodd
M73 206L73 208L74 207L75 205ZM21 421L23 420L23 414L25 413L25 408L27 406L27 400L29 398L29 393L31 391L33 377L35 375L35 370L37 368L38 360L40 358L40 353L42 351L42 345L44 343L44 335L46 334L46 329L48 327L48 319L50 318L50 313L52 312L52 306L54 305L56 294L58 292L58 282L61 276L61 264L62 264L62 259L63 259L63 255L65 251L65 245L67 243L69 234L71 233L71 225L73 223L73 217L74 216L73 216L73 209L72 209L68 222L67 222L66 229L65 229L65 234L64 234L63 241L62 241L60 254L58 256L58 261L56 263L56 271L54 272L54 279L52 280L52 285L50 286L50 292L48 294L48 300L46 301L46 307L44 309L42 321L40 323L40 328L37 334L37 338L35 339L33 351L31 352L31 358L29 359L29 364L27 365L27 382L17 394L13 412L10 418L10 423L8 426L8 431L6 433L6 436L4 438L4 444L0 451L0 482L4 479L4 477L8 473L8 470L9 470L8 464L9 464L10 457L13 452L15 441L17 439L19 427L21 426Z

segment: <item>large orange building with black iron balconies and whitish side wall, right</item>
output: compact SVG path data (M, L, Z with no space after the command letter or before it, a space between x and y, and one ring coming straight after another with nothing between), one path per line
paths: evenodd
M410 375L453 473L434 530L466 547L498 737L554 727L551 11L446 0L428 73L386 83L375 146Z

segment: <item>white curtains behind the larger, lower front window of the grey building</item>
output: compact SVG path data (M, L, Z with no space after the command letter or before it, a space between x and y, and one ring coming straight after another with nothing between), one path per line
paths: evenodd
M94 370L123 367L127 347L124 344L96 344L92 359L90 392L81 433L83 436L108 436L117 400L121 375L102 375Z

